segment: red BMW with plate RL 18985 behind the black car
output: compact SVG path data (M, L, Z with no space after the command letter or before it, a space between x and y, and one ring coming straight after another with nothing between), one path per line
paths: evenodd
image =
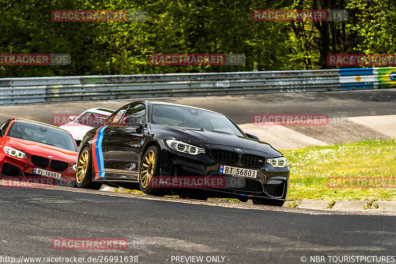
M74 186L77 145L58 127L25 119L8 119L0 126L0 177L46 177L54 184Z

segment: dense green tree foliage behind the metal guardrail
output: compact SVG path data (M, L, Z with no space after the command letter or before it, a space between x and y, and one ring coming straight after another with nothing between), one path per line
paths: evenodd
M144 22L53 22L52 10L147 10ZM254 9L347 9L347 22L256 22ZM0 77L329 68L331 53L395 54L393 0L0 0L0 53L69 53ZM152 66L151 53L244 53L243 66Z

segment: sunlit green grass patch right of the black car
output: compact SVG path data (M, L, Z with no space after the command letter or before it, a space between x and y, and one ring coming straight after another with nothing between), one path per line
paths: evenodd
M290 163L288 200L396 201L395 188L328 188L328 177L396 177L396 140L367 140L282 151Z

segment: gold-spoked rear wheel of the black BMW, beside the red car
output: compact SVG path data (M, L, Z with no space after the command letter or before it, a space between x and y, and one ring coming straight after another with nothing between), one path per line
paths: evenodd
M77 159L76 185L78 188L99 190L102 186L93 180L92 152L89 146L85 146ZM82 175L81 175L82 174Z

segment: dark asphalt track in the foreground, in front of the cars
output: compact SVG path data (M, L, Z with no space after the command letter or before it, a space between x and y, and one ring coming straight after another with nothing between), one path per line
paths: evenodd
M394 216L227 206L67 187L0 188L0 256L139 256L148 264L177 263L172 256L223 256L230 264L301 264L303 256L306 263L311 256L333 263L327 256L395 255ZM126 238L129 247L51 248L53 238L92 237Z

